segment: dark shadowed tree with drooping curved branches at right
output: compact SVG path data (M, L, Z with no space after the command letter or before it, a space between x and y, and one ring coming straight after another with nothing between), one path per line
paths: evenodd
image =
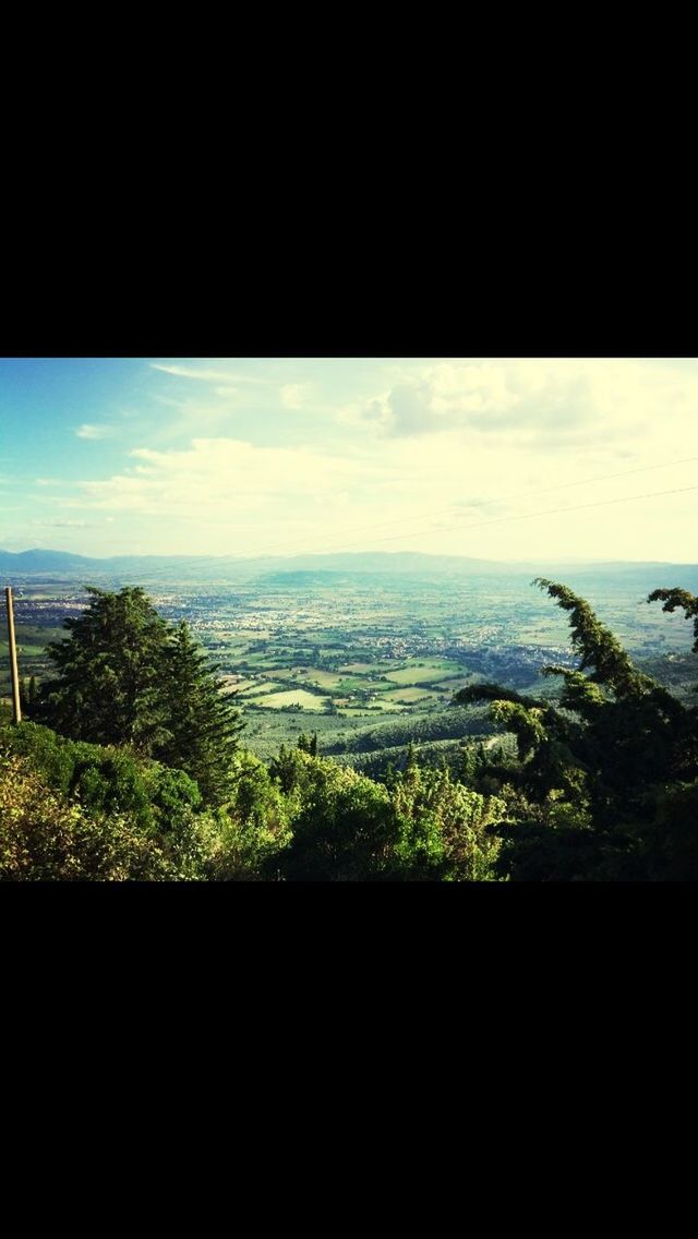
M517 738L517 769L502 789L508 821L495 828L505 839L502 871L538 881L698 878L698 833L687 825L698 790L698 710L634 667L584 598L554 581L536 584L570 613L580 655L572 670L543 668L563 680L559 703L492 684L455 699L491 701L495 720ZM698 638L692 595L656 590L647 601L682 607Z

